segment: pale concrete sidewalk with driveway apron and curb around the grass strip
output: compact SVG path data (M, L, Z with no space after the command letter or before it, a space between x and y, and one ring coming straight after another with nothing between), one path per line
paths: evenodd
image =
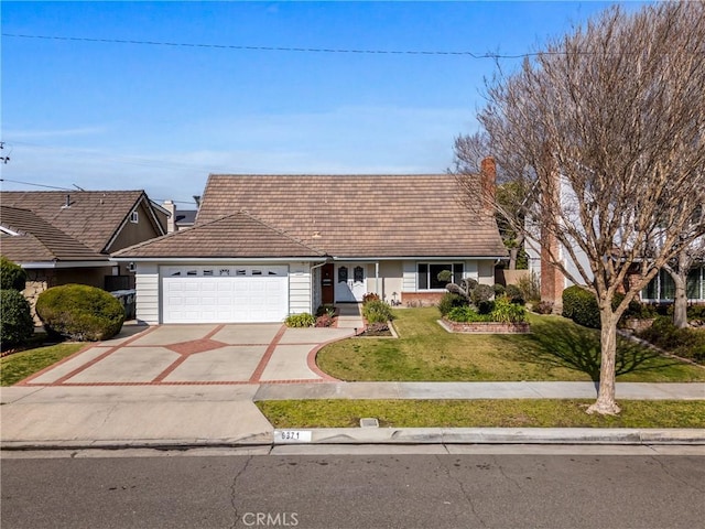
M319 382L10 387L0 390L1 447L192 447L291 444L698 444L705 430L303 429L276 431L256 407L281 399L595 398L592 382ZM618 382L620 399L705 400L705 384Z

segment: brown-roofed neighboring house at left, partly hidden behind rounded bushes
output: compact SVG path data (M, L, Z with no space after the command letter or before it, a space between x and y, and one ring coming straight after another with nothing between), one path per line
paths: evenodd
M0 253L28 272L31 302L50 287L134 288L110 252L166 233L167 213L143 191L2 191Z

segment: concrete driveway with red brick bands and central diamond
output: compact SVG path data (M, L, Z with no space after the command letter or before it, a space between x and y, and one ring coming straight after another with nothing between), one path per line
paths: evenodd
M124 326L19 386L243 385L335 380L315 365L344 328L281 324Z

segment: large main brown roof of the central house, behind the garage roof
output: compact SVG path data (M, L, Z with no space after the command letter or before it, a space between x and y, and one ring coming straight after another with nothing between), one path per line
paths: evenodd
M459 193L451 174L210 175L196 226L247 210L334 257L505 256L494 214Z

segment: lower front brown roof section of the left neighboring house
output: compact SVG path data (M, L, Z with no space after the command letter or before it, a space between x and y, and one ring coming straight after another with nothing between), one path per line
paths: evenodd
M0 251L15 262L107 260L26 209L0 205L0 225L18 234L0 237Z

